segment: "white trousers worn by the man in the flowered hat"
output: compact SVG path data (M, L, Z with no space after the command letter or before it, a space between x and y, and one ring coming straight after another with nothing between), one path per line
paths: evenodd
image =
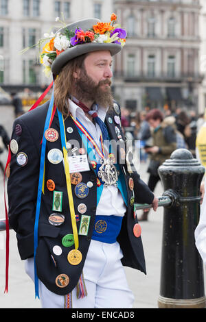
M119 243L91 240L84 263L84 282L87 297L77 299L72 291L72 308L132 308L133 293L128 288L121 262ZM34 259L25 261L25 271L34 281ZM65 296L52 293L39 281L39 296L43 308L64 308Z

